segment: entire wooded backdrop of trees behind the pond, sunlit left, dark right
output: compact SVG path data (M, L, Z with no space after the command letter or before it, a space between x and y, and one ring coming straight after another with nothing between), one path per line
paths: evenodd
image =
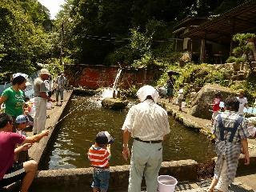
M75 63L166 66L177 55L169 39L178 21L221 14L242 2L66 0L53 25L38 0L2 0L0 73L30 73L37 62L60 57Z

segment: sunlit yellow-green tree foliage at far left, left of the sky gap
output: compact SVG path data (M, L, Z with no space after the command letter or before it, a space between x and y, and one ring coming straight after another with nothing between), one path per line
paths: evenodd
M49 12L36 0L0 2L0 73L35 70L36 63L49 54L50 39L44 28L49 21Z

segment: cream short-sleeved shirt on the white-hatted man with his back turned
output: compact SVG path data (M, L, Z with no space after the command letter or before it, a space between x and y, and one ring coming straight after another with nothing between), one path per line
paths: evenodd
M167 112L151 99L146 99L130 108L122 130L128 130L133 138L143 141L162 140L170 133Z

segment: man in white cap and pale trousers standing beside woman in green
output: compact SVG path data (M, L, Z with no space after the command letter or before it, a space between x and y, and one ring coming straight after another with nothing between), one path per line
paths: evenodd
M40 134L42 130L45 130L46 126L46 102L55 102L54 99L51 99L46 94L46 85L45 80L49 78L49 71L46 69L40 70L39 77L34 80L34 134Z

